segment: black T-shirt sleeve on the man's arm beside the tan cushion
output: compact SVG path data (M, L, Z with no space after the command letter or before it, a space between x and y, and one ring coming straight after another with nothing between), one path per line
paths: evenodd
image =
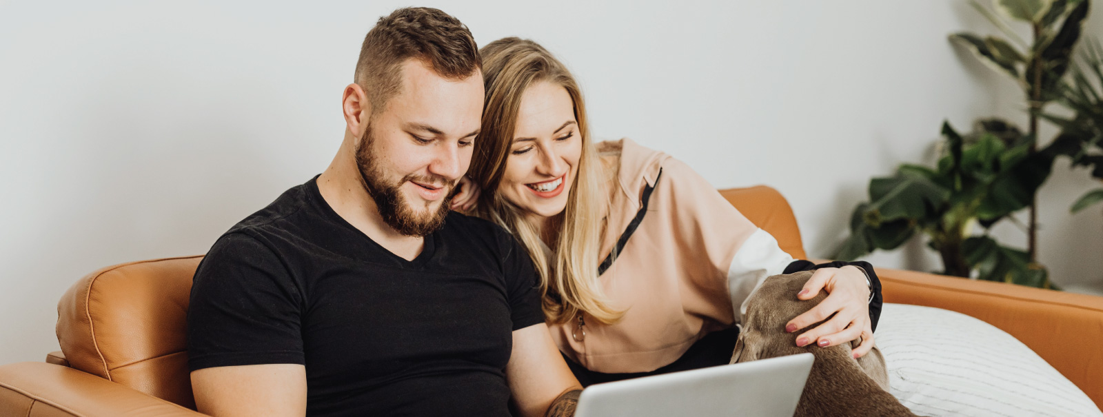
M188 365L304 364L301 296L279 257L233 233L200 264L188 309Z

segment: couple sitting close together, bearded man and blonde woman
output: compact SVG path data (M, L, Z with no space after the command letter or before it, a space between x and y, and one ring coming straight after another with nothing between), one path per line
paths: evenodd
M794 297L828 297L788 324L796 343L874 346L869 264L794 260L685 163L592 142L535 42L479 50L439 10L397 10L341 109L329 168L195 272L200 411L571 415L592 383L728 363L757 286L808 269Z

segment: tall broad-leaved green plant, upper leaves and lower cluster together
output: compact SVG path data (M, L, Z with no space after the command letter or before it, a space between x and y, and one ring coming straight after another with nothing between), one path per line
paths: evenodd
M849 260L875 249L895 249L921 233L942 258L945 275L1051 288L1046 268L1036 260L1035 196L1053 159L1071 152L1072 139L1059 138L1039 150L1038 120L1045 117L1046 104L1064 93L1061 79L1089 2L993 0L996 13L975 1L972 4L1010 41L967 32L952 34L950 40L1019 84L1029 109L1028 130L988 119L978 121L972 133L960 135L943 122L943 151L936 167L903 164L891 177L872 179L870 202L854 210L850 236L836 257ZM1030 42L1020 39L1008 21L1029 24ZM1103 127L1103 118L1100 121ZM1026 250L989 236L993 225L1014 221L1011 215L1024 209L1030 210Z

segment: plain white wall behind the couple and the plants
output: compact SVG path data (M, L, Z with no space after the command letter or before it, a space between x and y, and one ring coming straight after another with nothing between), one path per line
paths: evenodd
M321 172L364 33L407 6L94 4L0 1L0 363L56 350L57 299L83 275L202 254ZM426 4L480 44L558 53L597 136L663 149L718 188L778 188L812 256L845 236L871 175L931 157L942 119L1021 118L1014 85L946 42L988 30L959 0ZM1067 214L1084 177L1042 192L1042 260L1070 287L1103 280L1103 216ZM919 243L871 259L938 267Z

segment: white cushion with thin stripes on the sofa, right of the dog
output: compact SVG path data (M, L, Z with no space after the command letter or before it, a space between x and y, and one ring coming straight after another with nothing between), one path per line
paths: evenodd
M1103 416L1010 334L949 310L886 303L877 327L892 395L924 416Z

